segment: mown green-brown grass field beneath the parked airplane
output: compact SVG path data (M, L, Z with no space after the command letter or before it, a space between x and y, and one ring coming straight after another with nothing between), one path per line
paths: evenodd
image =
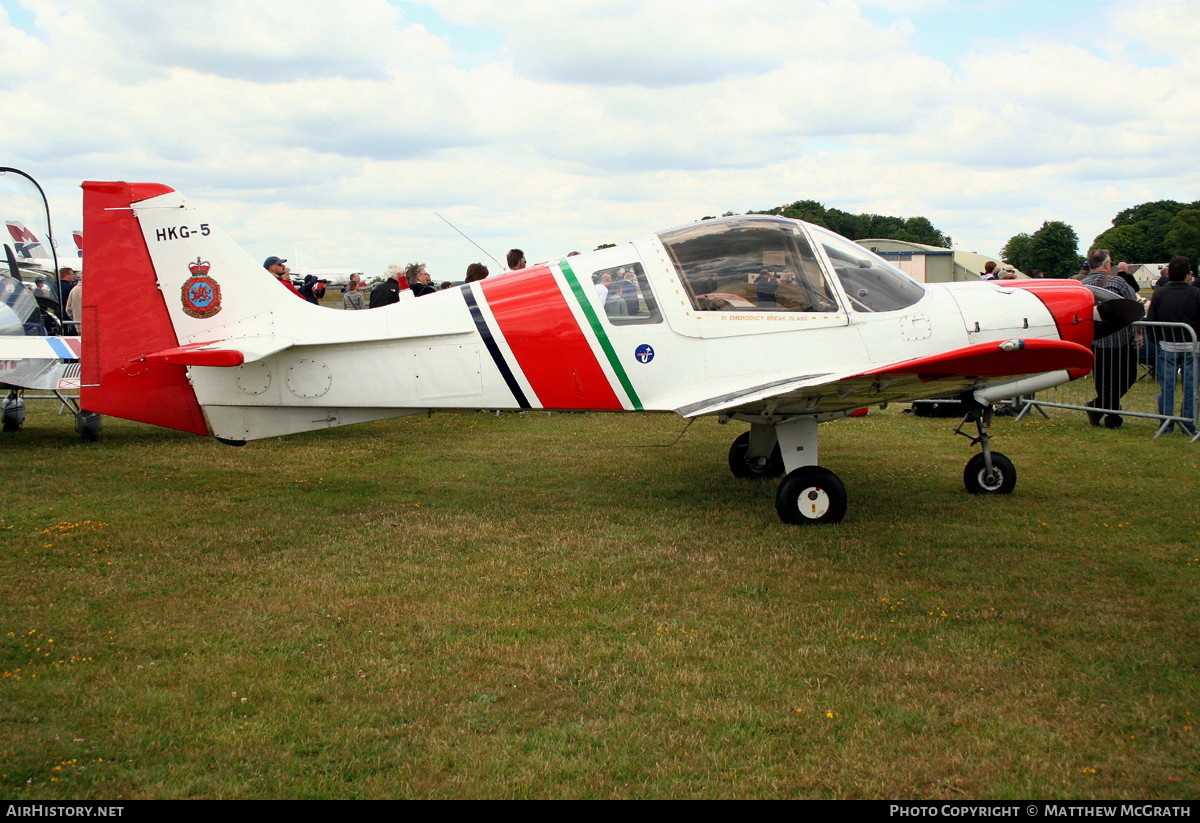
M796 528L739 426L439 415L232 449L31 404L0 455L8 798L1200 795L1200 445L822 427Z

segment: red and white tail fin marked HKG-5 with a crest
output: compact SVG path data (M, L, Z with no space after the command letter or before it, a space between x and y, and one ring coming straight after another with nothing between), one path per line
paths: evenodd
M283 350L293 341L276 334L281 316L295 329L295 314L319 310L290 295L172 188L83 188L83 407L211 433L180 366L236 366Z

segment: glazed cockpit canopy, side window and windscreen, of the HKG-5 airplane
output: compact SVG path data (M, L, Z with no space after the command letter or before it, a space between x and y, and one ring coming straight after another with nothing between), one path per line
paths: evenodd
M701 221L659 235L702 312L836 312L839 299L815 240L858 312L889 312L924 289L862 246L793 220L746 216Z

